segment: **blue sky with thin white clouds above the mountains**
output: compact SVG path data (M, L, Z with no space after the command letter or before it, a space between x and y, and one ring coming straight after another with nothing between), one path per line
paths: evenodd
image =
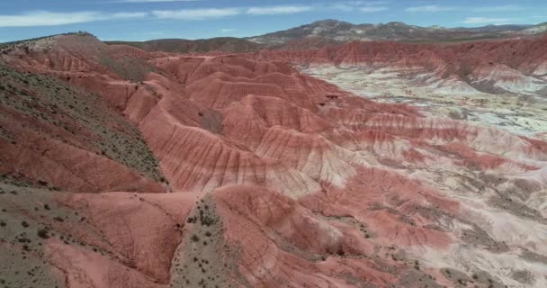
M0 42L68 31L101 40L245 37L321 19L471 27L547 22L545 0L10 0Z

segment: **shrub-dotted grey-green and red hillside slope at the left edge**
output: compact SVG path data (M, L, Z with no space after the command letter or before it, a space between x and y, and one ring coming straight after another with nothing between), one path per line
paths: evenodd
M0 62L4 178L49 190L165 192L140 131L101 96L63 80Z

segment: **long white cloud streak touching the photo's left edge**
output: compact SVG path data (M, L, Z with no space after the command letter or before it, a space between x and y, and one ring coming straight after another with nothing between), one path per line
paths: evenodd
M146 13L140 12L102 14L98 12L56 13L34 11L17 15L0 15L0 27L58 26L95 21L142 18L146 17L146 15Z

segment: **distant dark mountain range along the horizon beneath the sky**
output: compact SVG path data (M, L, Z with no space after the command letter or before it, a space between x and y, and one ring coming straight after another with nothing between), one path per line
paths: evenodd
M253 52L260 49L317 49L354 40L393 40L403 42L462 42L529 37L547 31L547 23L536 25L488 25L474 28L420 27L405 23L353 24L322 20L284 31L247 38L222 37L203 40L108 41L147 51Z

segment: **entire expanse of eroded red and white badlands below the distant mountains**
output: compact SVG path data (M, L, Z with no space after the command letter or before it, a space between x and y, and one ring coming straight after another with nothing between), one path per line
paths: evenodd
M545 36L245 52L0 44L0 287L547 287Z

